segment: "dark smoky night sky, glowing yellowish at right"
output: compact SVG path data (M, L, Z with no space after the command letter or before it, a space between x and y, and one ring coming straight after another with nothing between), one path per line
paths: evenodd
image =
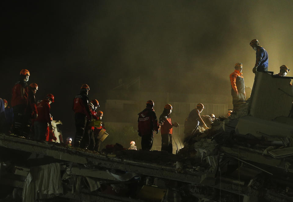
M254 38L268 51L270 71L293 63L291 1L2 1L0 7L0 97L9 99L20 70L28 69L37 98L54 94L52 114L67 127L82 83L100 95L90 99L101 101L118 79L138 76L145 90L230 96L237 62L252 87Z

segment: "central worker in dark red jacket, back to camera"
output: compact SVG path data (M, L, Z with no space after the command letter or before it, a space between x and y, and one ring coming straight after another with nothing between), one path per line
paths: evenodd
M160 126L154 112L154 101L147 101L146 108L138 114L138 135L141 136L142 150L151 150L154 140L154 131L159 131Z

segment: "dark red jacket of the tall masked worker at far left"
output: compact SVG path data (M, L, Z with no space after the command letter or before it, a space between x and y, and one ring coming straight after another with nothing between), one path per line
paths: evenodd
M22 94L24 92L24 94ZM17 82L12 88L11 106L27 105L28 103L28 86L27 83Z

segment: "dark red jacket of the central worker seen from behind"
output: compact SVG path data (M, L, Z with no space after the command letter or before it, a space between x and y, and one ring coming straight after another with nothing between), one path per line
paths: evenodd
M140 136L154 134L159 131L159 122L156 113L149 108L145 108L138 114L138 133Z

